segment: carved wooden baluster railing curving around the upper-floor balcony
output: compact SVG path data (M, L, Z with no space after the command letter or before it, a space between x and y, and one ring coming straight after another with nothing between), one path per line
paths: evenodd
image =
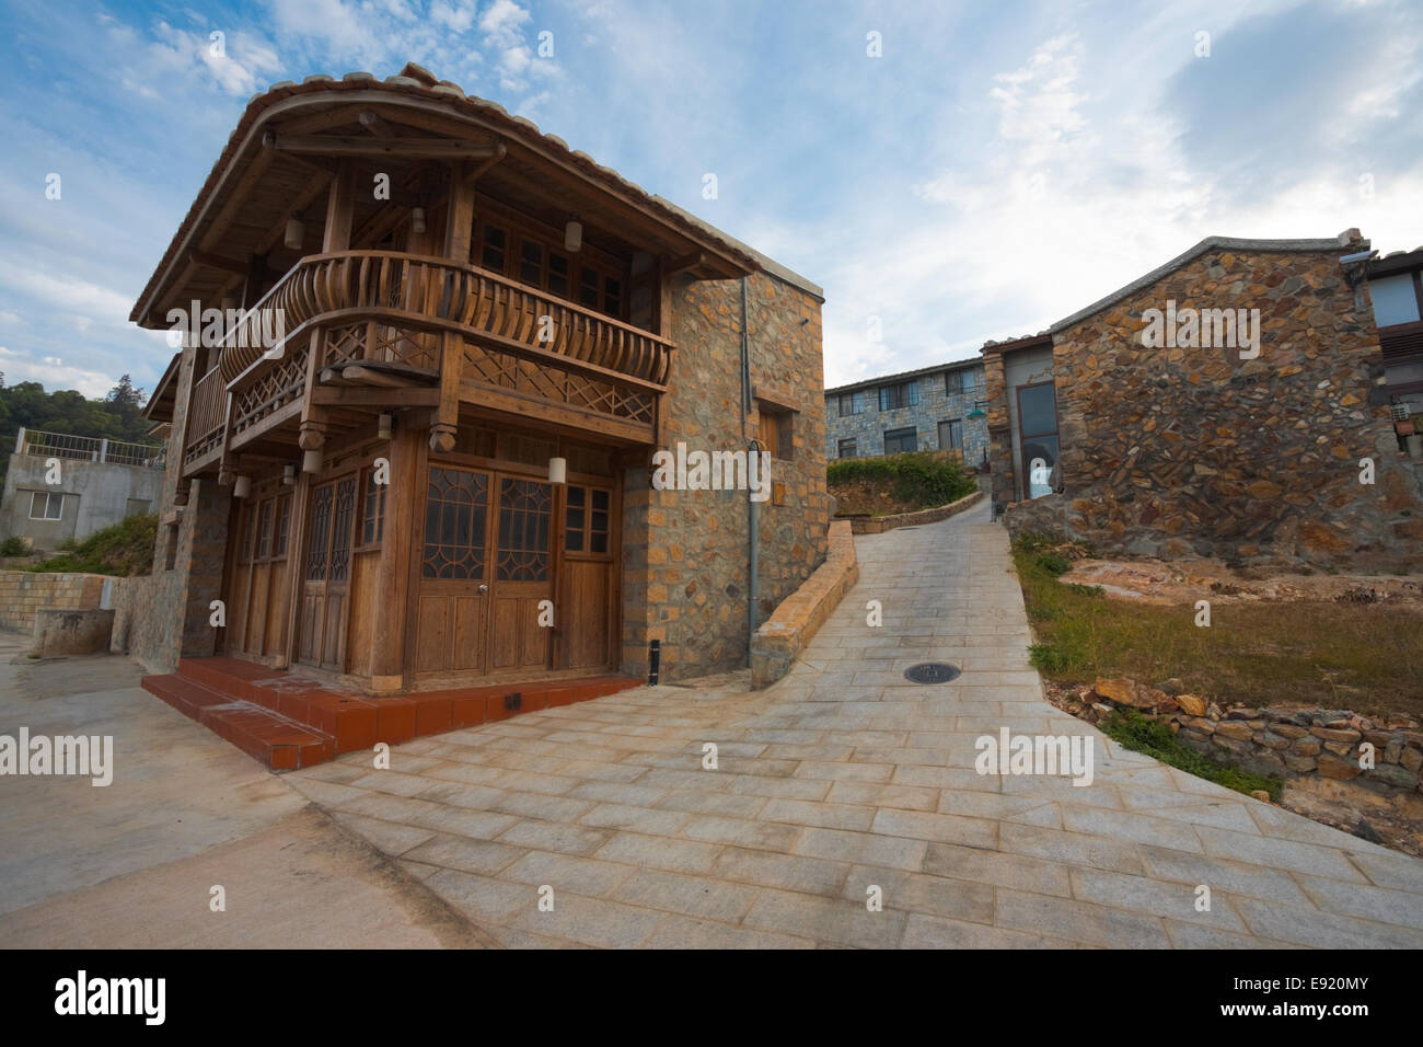
M225 342L223 380L233 392L252 385L287 355L286 345L317 323L351 329L324 339L322 366L379 359L438 372L438 335L450 332L471 340L484 335L522 359L615 382L632 379L655 392L666 385L673 348L650 332L472 265L343 251L303 258L239 321ZM360 332L361 323L370 326Z

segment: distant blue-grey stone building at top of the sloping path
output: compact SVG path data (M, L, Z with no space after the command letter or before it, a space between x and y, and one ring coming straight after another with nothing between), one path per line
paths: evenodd
M958 450L978 466L988 454L983 365L939 363L825 390L825 457Z

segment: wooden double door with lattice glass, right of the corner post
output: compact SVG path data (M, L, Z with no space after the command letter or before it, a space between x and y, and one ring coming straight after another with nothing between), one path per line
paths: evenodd
M552 667L554 484L431 464L414 671L512 674Z

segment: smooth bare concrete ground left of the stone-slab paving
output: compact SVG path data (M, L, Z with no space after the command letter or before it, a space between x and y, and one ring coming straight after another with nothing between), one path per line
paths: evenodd
M0 734L114 735L114 782L0 778L6 947L431 947L491 940L124 658L0 632ZM11 660L18 661L11 661ZM226 912L209 910L209 889Z

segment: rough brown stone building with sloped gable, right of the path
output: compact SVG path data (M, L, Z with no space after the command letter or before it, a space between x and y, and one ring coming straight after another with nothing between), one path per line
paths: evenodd
M1423 463L1389 420L1369 244L1211 236L983 350L1010 530L1109 556L1414 571Z

